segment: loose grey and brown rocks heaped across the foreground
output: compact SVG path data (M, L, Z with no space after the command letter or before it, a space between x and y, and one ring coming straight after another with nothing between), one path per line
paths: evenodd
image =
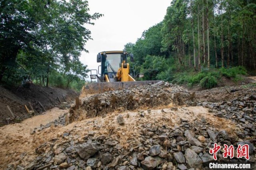
M255 163L252 155L254 146L250 141L238 140L225 130L218 131L204 120L188 123L182 119L180 125L174 128L148 123L141 126L140 142L128 140L126 146L120 145L118 139L111 135L97 135L94 131L82 137L72 132L64 133L62 139L62 142L56 142L56 139L42 144L36 148L36 160L27 167L18 166L17 169L202 169L213 160L209 149L214 143L222 147L223 144L233 144L235 148L238 144L249 144L250 161ZM217 157L229 161L223 158L222 152L218 152Z

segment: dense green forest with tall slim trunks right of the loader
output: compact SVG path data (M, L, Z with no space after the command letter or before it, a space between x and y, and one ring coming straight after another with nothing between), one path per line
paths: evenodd
M256 73L255 28L254 0L172 0L164 20L124 49L144 79L214 87L221 75Z

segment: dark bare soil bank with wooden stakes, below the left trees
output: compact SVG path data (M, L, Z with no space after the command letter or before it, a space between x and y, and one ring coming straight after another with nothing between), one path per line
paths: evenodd
M17 122L31 117L24 107L26 105L30 109L28 102L32 104L35 111L34 115L40 115L44 110L39 102L43 105L44 109L48 110L60 105L57 97L59 97L61 102L65 102L63 96L67 102L73 102L74 98L79 96L79 94L70 89L42 87L38 85L31 85L30 89L19 87L18 89L12 90L0 86L0 122L6 123L5 119L9 117L13 119L7 106L14 113L14 122Z

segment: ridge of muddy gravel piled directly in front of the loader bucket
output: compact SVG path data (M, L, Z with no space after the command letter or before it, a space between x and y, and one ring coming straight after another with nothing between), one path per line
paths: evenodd
M67 124L88 117L106 115L121 110L135 110L140 107L155 107L162 105L189 105L194 95L187 89L170 83L143 85L128 89L107 91L81 99L81 105L70 109ZM79 108L79 109L78 109Z

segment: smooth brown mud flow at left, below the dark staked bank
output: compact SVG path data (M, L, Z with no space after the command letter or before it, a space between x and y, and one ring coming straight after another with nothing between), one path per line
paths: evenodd
M58 119L68 110L52 108L43 115L34 116L21 123L0 127L0 169L6 168L10 162L19 163L25 155L33 154L35 148L44 143L48 136L32 134L34 128Z

